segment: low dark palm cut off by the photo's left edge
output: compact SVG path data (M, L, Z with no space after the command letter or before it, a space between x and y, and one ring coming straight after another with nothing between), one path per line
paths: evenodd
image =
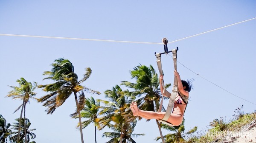
M7 143L7 140L12 143L12 130L8 129L10 126L11 124L6 123L6 119L0 115L0 143Z

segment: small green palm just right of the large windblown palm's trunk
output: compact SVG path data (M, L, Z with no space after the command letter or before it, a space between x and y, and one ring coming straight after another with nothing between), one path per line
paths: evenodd
M81 110L81 118L87 118L88 120L82 122L82 129L87 127L90 123L95 123L94 125L94 140L96 141L96 126L99 123L96 122L96 118L99 115L100 102L95 101L93 97L85 99L84 109ZM80 125L78 125L80 126Z

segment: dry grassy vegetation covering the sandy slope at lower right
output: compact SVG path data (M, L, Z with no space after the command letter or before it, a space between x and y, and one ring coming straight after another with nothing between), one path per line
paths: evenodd
M242 135L245 131L256 126L256 112L244 113L243 105L238 107L235 111L236 114L230 121L224 121L224 118L214 119L209 123L211 129L206 133L197 132L188 138L187 143L224 143L232 141Z

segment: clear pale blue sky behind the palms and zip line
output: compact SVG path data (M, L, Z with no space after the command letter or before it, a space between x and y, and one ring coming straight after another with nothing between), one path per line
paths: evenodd
M161 43L163 37L171 42L254 17L255 0L0 0L0 34ZM177 69L181 78L195 79L184 117L187 130L194 126L206 129L215 118L227 116L228 121L241 105L244 112L255 111L255 39L256 20L250 20L168 45L169 50L179 47L177 60L181 64ZM12 113L22 101L5 98L12 90L8 85L17 86L16 80L21 77L38 84L49 83L42 81L42 73L51 69L55 59L69 59L80 78L90 67L92 75L84 86L104 93L121 81L132 81L129 70L139 64L157 70L154 52L163 52L163 45L0 35L0 114L8 123L15 122L20 113ZM162 60L165 82L172 83L172 58L163 55ZM36 92L38 98L45 95L41 89ZM104 94L86 95L90 96L104 98ZM164 104L167 106L167 101ZM35 141L79 143L78 120L69 117L75 109L72 96L52 115L44 112L42 104L30 101L26 117L31 128L37 129ZM97 132L99 143L109 140L102 138L102 133L108 131ZM84 141L93 143L93 125L83 132ZM154 120L139 121L134 133L146 134L134 138L137 143L154 143L159 136ZM164 135L167 133L163 130Z

